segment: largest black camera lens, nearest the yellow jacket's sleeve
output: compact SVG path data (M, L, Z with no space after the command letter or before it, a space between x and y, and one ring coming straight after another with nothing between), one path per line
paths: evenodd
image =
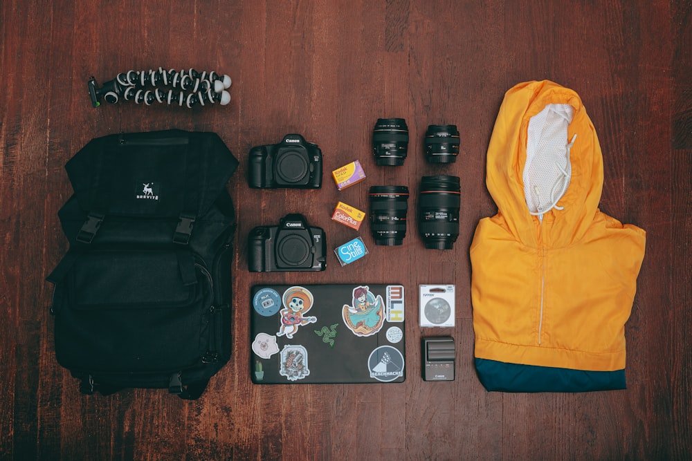
M457 176L423 176L418 228L426 248L451 250L459 236L461 189Z

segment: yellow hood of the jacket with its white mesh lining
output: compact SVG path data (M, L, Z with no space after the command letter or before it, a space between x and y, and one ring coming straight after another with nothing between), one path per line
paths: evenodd
M561 247L579 240L599 211L603 187L601 147L579 95L547 80L507 91L486 185L517 241L537 247L543 238ZM549 232L539 237L542 220Z

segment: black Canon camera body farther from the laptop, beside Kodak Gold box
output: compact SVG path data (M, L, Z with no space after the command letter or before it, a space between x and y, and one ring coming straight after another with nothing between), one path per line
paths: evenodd
M320 189L322 151L298 134L285 135L279 144L253 147L248 184L254 189Z

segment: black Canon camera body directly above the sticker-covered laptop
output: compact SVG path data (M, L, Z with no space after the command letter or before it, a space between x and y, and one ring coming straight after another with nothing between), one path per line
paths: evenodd
M308 272L327 268L325 231L302 214L287 214L277 226L259 226L248 236L250 272Z

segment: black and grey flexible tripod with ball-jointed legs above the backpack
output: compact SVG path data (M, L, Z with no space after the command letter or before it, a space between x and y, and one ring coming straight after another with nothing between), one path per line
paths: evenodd
M106 102L116 104L122 98L147 106L154 102L178 104L191 108L197 104L219 103L225 106L230 102L231 80L228 75L212 72L199 73L197 70L175 69L164 70L129 70L105 82L101 88L94 77L89 79L89 96L91 105L100 106L103 98Z

